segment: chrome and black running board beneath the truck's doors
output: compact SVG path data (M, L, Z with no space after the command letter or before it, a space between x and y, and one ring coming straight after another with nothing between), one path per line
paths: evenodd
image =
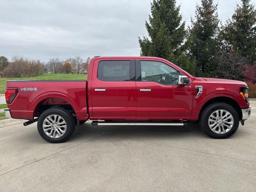
M160 126L184 126L186 122L160 122L160 121L152 121L152 122L122 122L122 121L92 121L92 125L160 125Z

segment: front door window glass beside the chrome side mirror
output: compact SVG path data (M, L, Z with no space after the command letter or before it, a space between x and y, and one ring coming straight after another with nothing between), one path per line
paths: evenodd
M157 61L141 61L141 80L154 81L164 85L177 85L180 72Z

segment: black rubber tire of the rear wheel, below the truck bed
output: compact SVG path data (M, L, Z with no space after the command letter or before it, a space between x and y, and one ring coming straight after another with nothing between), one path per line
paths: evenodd
M49 115L53 115L56 114L58 116L61 116L65 122L66 122L66 132L59 138L51 138L49 136L46 135L46 133L43 130L43 122L45 120L45 118ZM38 118L38 122L37 122L37 129L38 132L40 134L40 136L50 142L50 143L62 143L65 142L66 140L68 140L68 138L70 138L70 136L72 136L72 134L74 133L76 124L74 121L74 118L72 117L72 115L70 114L70 112L68 112L68 110L64 109L64 108L50 108L45 110Z

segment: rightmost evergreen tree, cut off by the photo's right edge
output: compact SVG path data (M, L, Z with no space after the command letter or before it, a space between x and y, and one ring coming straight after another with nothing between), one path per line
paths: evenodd
M222 27L224 51L236 51L242 56L256 61L256 10L250 0L241 0L236 5L232 18Z

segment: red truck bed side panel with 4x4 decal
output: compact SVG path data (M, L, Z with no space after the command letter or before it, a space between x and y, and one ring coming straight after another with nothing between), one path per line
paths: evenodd
M10 80L6 90L16 90L8 108L12 118L33 120L40 106L70 105L77 118L87 119L86 80Z

